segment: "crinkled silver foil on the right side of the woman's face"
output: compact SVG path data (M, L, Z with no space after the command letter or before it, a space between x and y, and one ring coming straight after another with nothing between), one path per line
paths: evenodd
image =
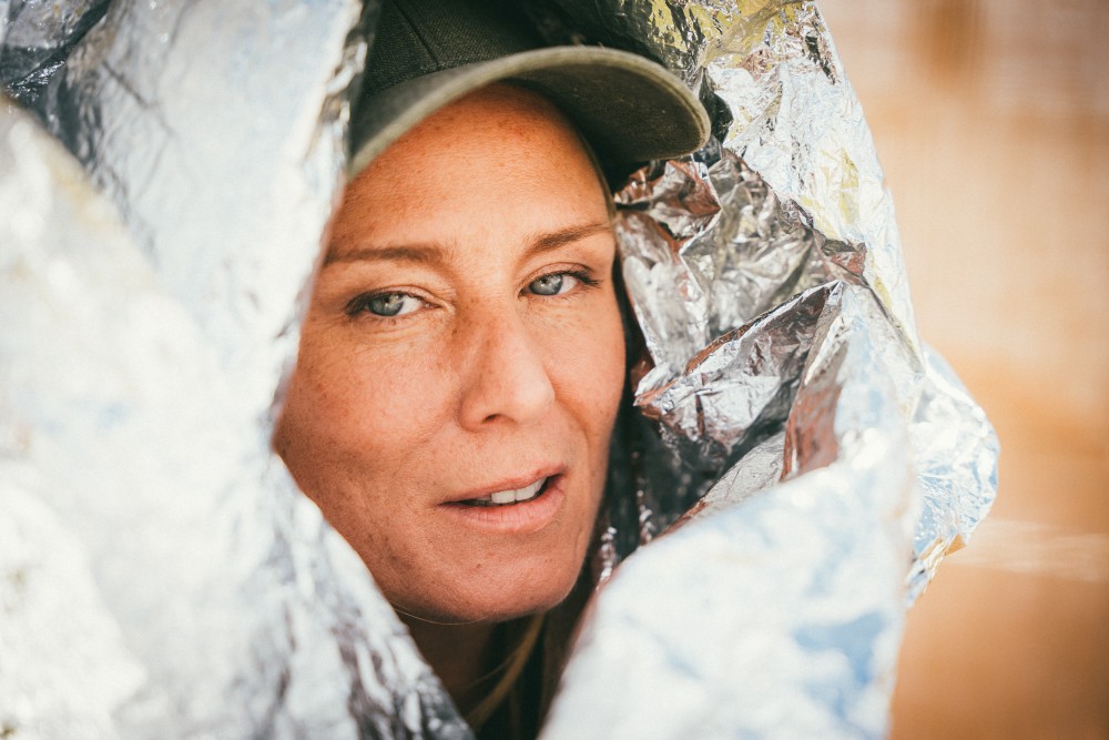
M619 568L602 551L613 575L545 737L882 737L906 599L988 513L997 439L916 336L892 201L815 6L642 12L661 19L645 47L680 28L703 49L729 112L617 195L653 362L635 403L716 483ZM629 526L664 530L672 491L637 495Z

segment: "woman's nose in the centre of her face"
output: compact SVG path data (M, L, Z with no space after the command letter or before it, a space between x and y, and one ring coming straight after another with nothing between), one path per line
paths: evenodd
M460 423L477 430L498 420L529 424L554 403L554 386L535 331L516 312L475 317L467 337Z

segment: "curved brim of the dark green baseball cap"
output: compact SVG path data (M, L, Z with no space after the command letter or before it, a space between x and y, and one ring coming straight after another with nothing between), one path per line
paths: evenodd
M494 82L517 82L548 98L606 164L688 154L709 138L701 102L659 64L615 49L551 47L425 74L363 101L349 175L431 113Z

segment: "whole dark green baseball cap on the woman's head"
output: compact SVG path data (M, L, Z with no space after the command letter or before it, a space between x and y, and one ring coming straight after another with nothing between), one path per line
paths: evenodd
M386 0L352 116L350 176L494 82L554 103L606 169L688 154L709 136L704 107L663 67L602 47L547 47L516 1Z

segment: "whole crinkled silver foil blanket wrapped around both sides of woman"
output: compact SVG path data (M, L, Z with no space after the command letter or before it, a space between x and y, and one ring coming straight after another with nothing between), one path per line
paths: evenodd
M879 737L997 442L916 336L820 13L528 7L714 131L617 195L645 432L545 737ZM468 737L268 450L375 16L0 0L0 737Z

